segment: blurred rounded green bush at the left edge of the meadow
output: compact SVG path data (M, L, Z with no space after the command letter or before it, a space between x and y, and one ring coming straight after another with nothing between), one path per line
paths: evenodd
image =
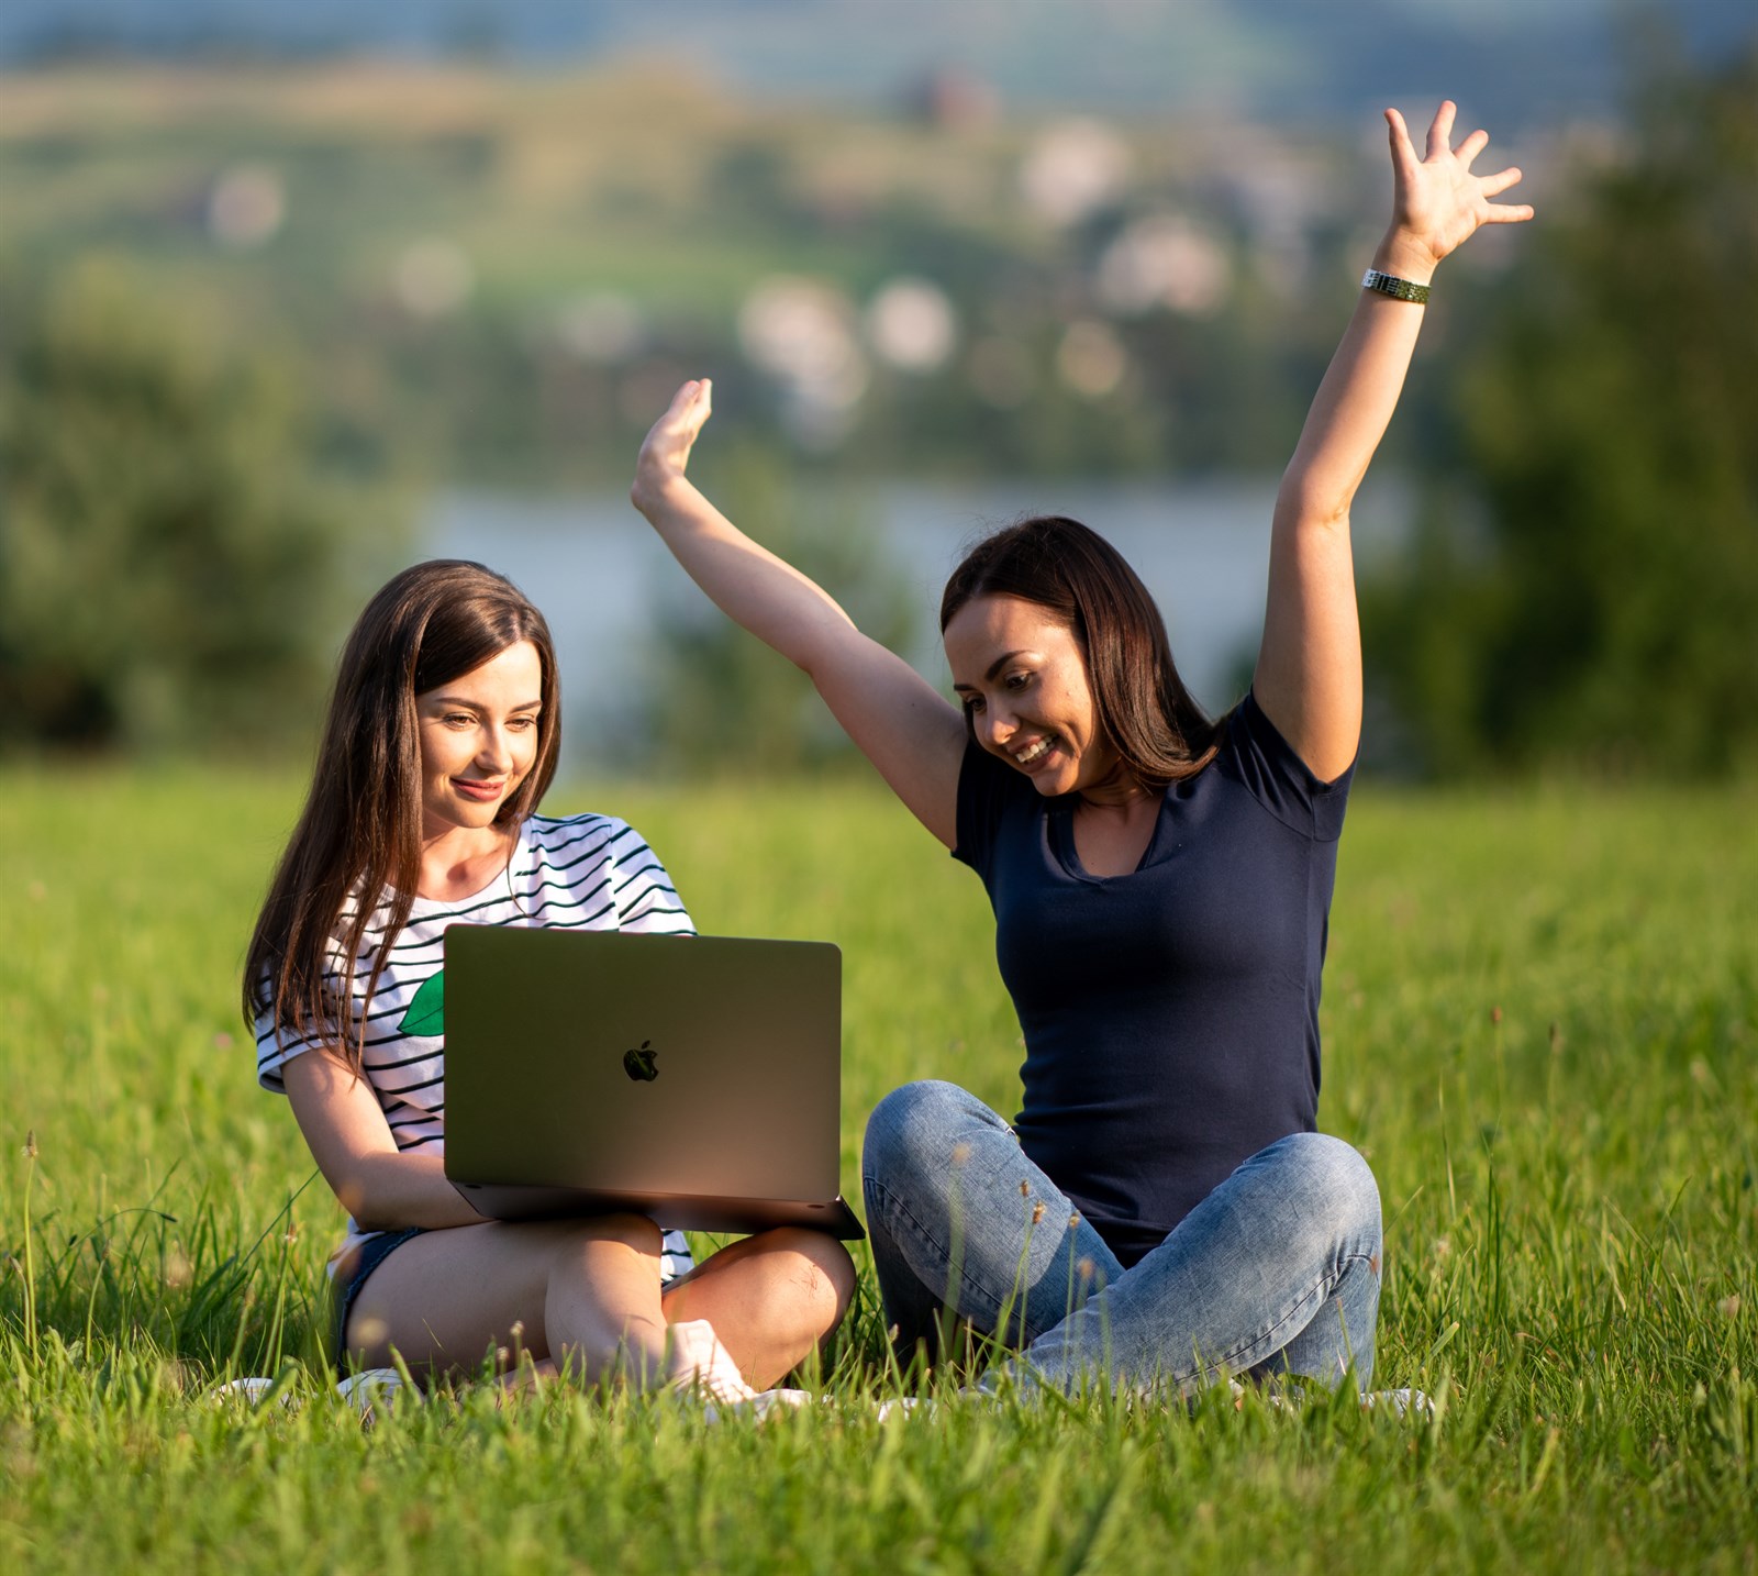
M352 614L295 368L98 260L9 317L0 746L285 739Z

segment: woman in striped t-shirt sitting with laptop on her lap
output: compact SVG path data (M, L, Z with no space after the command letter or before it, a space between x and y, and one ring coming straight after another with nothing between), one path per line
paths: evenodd
M441 559L367 603L244 962L257 1076L352 1217L331 1263L345 1367L522 1354L538 1377L747 1402L842 1317L842 1244L768 1231L693 1265L638 1215L483 1221L445 1177L448 925L693 932L633 827L536 813L559 725L548 626L510 580Z

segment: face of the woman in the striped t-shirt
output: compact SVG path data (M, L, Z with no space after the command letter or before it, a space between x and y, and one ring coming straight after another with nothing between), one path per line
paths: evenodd
M422 839L485 832L538 756L543 661L520 640L415 697Z

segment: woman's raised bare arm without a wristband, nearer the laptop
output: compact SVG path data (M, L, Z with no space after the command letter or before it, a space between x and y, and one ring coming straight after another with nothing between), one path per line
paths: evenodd
M965 749L958 709L904 658L854 628L819 586L701 496L686 468L710 398L707 378L677 390L642 445L629 491L635 507L721 612L812 679L879 776L951 848Z

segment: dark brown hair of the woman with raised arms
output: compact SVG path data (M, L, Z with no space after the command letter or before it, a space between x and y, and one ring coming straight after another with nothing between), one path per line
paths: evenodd
M1034 515L984 536L941 596L941 633L977 596L1018 596L1055 614L1079 644L1099 726L1148 788L1210 763L1222 725L1195 704L1173 663L1166 619L1109 542L1065 515Z

